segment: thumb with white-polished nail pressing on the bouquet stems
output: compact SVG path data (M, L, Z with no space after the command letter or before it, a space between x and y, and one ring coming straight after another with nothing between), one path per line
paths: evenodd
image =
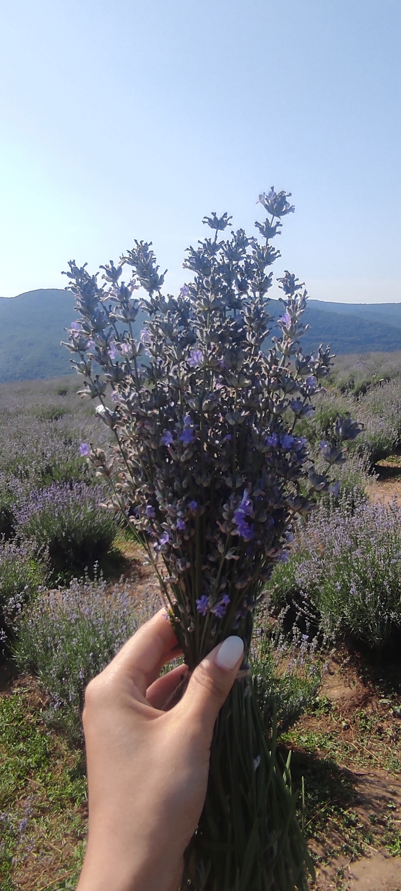
M227 637L196 666L178 703L180 710L184 710L185 722L191 722L194 728L201 725L209 741L217 715L241 666L242 655L241 637Z

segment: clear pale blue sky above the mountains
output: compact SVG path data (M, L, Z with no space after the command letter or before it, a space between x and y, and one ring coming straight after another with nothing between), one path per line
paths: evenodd
M401 0L0 0L0 295L292 192L312 298L401 301ZM188 274L186 274L188 275Z

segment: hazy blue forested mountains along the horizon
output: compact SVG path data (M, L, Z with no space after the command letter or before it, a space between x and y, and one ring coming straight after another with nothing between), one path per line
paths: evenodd
M0 298L0 382L59 377L71 372L66 339L77 317L74 297L58 289L32 290L14 298ZM277 318L282 304L270 301ZM337 355L391 352L401 349L401 303L326 303L309 300L302 338L305 351L319 343L331 345ZM138 326L138 333L139 333ZM274 333L274 331L272 332Z

